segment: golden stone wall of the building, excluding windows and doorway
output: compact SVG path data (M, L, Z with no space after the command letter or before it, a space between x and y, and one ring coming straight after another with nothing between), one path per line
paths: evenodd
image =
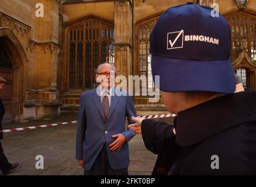
M35 16L35 5L44 5L44 18ZM186 4L185 0L2 0L0 4L0 37L8 40L13 61L13 99L19 100L22 119L54 117L60 105L69 110L78 107L81 91L68 90L65 27L90 15L115 25L115 64L118 74L134 74L136 58L136 25L141 20L160 15L170 6ZM194 1L196 2L196 1ZM220 13L237 10L233 0L200 0L202 4L219 4ZM248 11L256 12L256 1ZM148 105L147 97L134 98L140 108ZM155 105L161 108L162 99ZM153 106L153 105L152 105ZM65 107L64 107L65 108Z

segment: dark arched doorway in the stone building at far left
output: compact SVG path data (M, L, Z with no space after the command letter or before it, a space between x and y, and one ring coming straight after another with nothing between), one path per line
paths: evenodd
M6 79L0 97L5 105L3 122L20 119L23 113L23 63L27 57L18 38L9 27L0 27L0 75Z

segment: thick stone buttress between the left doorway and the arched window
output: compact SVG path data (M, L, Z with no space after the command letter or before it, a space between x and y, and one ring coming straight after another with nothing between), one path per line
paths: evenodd
M44 17L35 19L33 40L33 79L23 91L24 120L52 118L60 115L57 90L58 57L61 51L59 30L59 1L42 0ZM33 114L33 115L32 115Z

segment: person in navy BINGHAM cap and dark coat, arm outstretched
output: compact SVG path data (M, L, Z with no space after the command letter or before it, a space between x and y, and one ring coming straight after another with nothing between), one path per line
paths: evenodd
M167 9L150 35L151 68L174 125L133 117L158 154L154 175L256 174L256 91L234 93L230 26L206 6ZM220 29L221 28L221 29Z

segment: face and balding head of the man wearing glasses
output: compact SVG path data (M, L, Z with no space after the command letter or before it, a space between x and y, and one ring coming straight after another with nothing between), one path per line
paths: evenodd
M111 73L110 73L111 72ZM112 75L112 76L110 76ZM115 82L115 72L113 70L112 65L110 64L103 64L99 69L99 72L96 73L96 80L99 79L100 84L104 88L110 88L114 85Z

